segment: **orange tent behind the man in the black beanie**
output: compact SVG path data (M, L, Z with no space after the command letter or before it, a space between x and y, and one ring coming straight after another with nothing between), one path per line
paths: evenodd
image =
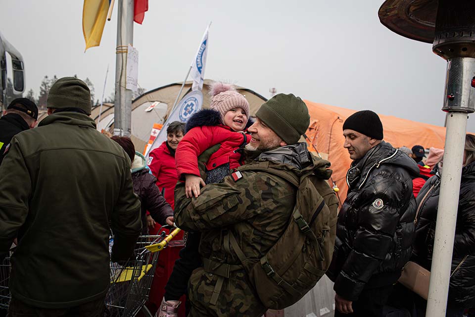
M317 150L323 159L332 163L332 181L339 188L338 196L341 202L346 197L346 171L352 160L348 151L343 148L343 122L356 112L335 106L317 104L305 100L310 113L310 126L307 137L310 151ZM427 123L420 123L394 116L379 115L384 133L384 141L393 147L422 145L424 148L444 148L445 128Z

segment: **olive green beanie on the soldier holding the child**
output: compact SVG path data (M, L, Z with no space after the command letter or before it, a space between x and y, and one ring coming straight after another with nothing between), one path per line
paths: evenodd
M307 105L292 94L278 94L256 112L263 121L287 144L295 144L310 124Z

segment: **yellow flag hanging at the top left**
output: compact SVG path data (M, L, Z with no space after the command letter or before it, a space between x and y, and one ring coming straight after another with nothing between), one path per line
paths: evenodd
M99 46L110 0L84 0L83 34L86 50ZM86 50L84 50L86 52Z

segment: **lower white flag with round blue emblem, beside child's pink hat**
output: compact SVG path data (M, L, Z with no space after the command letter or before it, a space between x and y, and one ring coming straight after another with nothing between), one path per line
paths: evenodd
M147 149L145 157L148 157L150 151L158 148L164 141L167 140L167 127L173 121L187 122L196 111L201 109L203 105L203 94L201 91L191 91L178 103L175 109L170 113L167 121L163 124L157 137L153 140L151 146Z

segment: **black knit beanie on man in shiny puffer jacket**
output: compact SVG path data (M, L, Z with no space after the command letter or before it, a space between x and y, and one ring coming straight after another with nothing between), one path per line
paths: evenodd
M378 114L371 110L361 110L350 115L343 123L343 130L350 129L370 138L382 140L382 123Z

